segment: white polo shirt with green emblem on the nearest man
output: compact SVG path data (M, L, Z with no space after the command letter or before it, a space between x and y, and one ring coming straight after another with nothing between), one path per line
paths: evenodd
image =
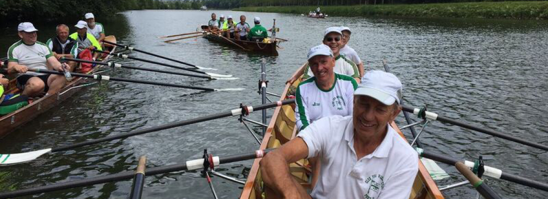
M321 171L311 196L407 199L419 169L418 154L390 125L372 154L357 160L352 116L319 119L299 133L308 157L319 156Z

